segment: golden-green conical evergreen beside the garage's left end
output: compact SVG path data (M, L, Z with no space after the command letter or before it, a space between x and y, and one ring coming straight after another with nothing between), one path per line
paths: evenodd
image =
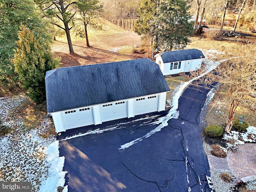
M54 59L49 46L39 43L24 25L18 33L13 63L19 76L20 87L28 90L28 96L36 103L45 99L46 71L56 68L59 59Z

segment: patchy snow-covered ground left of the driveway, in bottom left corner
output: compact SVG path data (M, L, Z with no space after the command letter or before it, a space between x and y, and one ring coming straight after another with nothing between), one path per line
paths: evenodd
M59 157L55 139L39 136L48 125L47 120L36 129L24 130L22 117L16 116L17 107L24 99L22 96L0 98L1 120L11 130L0 137L0 181L31 182L32 192L57 191L58 186L64 186L64 157Z

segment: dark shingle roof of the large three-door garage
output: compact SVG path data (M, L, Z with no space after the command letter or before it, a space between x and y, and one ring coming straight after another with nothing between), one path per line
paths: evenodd
M45 82L49 113L170 90L147 58L57 68L46 72Z

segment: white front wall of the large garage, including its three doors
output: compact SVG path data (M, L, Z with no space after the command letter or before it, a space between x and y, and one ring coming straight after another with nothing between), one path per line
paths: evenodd
M166 92L52 113L56 132L165 110Z

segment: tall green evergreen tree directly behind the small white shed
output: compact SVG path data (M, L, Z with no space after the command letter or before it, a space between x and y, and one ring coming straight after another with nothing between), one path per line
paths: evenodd
M165 0L156 10L152 22L158 26L154 36L158 37L158 44L165 50L182 49L188 44L193 28L188 22L190 15L187 2L184 0Z

